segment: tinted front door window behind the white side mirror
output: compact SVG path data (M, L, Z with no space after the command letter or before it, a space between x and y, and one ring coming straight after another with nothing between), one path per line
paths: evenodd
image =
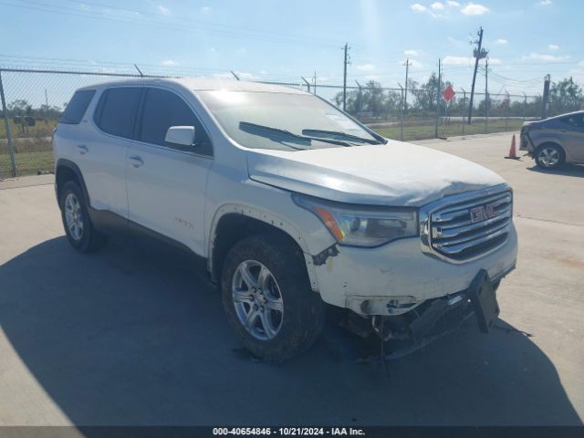
M171 126L194 126L195 130L194 147L173 145L172 149L212 155L211 142L203 125L186 102L166 89L146 89L138 140L168 147L164 139Z

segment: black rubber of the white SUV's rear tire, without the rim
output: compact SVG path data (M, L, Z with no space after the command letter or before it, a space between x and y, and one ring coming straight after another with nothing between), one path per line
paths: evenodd
M68 197L72 196L70 199L77 200L78 202L78 217L80 219L80 223L82 224L82 228L79 228L81 231L78 235L75 235L75 232L70 229L68 226L68 219L67 219L67 203ZM89 218L88 212L88 203L81 191L81 188L78 186L78 183L74 181L68 181L63 185L61 189L61 197L59 200L59 205L61 207L61 219L63 221L63 227L65 228L65 234L67 235L69 243L81 253L91 253L94 251L98 251L106 244L106 236L99 233L98 230L95 229L93 224L91 224L91 219Z

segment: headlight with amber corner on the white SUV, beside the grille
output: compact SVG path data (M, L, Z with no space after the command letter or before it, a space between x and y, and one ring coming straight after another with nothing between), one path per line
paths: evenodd
M297 205L316 214L339 244L378 246L418 235L417 209L333 203L299 194Z

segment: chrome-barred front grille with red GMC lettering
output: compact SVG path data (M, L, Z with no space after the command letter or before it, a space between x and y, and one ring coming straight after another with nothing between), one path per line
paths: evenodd
M505 244L512 216L511 191L447 204L430 214L430 245L456 261L484 255Z

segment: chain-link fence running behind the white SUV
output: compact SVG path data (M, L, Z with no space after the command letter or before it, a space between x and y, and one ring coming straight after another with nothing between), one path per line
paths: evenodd
M235 76L235 75L234 75ZM0 69L0 179L53 171L51 136L74 91L80 87L137 74L116 71ZM156 78L162 78L157 76ZM235 78L234 78L235 80ZM305 89L343 107L339 85L266 81ZM381 135L395 140L422 140L517 130L541 114L541 97L474 93L473 123L467 124L470 93L455 90L445 101L437 89L389 89L378 85L346 88L346 110Z

